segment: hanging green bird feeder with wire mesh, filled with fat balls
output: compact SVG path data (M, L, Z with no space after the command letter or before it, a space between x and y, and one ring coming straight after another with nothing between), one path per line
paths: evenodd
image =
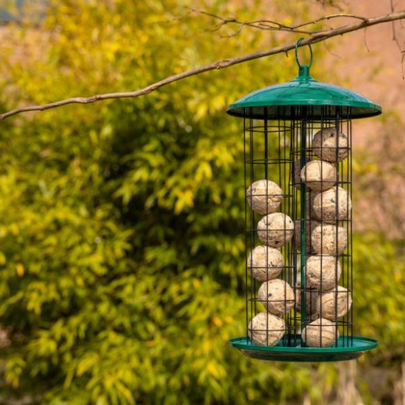
M310 77L254 91L243 118L246 336L254 359L342 361L377 347L353 335L352 120L381 114L353 91Z

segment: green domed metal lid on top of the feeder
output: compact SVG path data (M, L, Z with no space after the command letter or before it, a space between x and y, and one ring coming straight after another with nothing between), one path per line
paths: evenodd
M307 65L300 65L299 68L296 79L253 91L231 104L226 112L237 117L263 119L266 115L269 119L287 120L293 116L299 118L296 111L303 111L294 106L312 106L307 109L309 119L334 118L336 107L341 107L342 117L348 116L349 111L351 118L366 118L381 114L381 107L368 98L354 91L314 80L309 76ZM330 108L322 109L321 106Z

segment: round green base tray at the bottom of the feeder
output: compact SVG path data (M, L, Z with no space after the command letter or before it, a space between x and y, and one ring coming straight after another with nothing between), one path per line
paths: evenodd
M334 348L305 348L300 345L300 336L296 338L296 341L297 345L286 345L284 338L276 346L257 346L253 345L251 339L244 336L231 339L229 344L252 359L296 362L357 359L361 354L377 348L378 345L375 339L361 336L353 336L349 338L349 341L347 337L340 337Z

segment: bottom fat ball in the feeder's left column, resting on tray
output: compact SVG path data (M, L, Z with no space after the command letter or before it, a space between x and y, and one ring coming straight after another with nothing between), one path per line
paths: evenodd
M273 346L285 333L285 321L280 316L260 312L249 323L248 334L254 345Z

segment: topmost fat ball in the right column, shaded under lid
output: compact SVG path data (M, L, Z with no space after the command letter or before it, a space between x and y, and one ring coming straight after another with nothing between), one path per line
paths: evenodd
M340 131L339 136L336 136L337 133L336 128L325 128L316 132L312 138L312 151L315 156L332 163L340 162L348 157L348 137Z

